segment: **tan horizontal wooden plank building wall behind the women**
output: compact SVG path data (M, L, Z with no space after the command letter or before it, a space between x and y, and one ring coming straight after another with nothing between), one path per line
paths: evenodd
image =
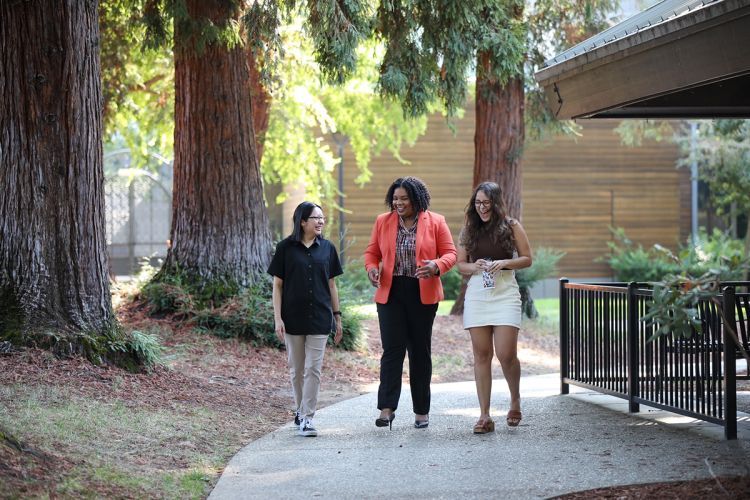
M532 247L566 252L560 274L571 278L609 277L597 259L607 253L610 226L624 227L644 246L676 247L689 230L689 201L681 201L686 172L676 169L676 146L620 145L616 120L582 121L581 137L559 137L527 144L522 162L522 222ZM402 149L408 165L390 154L373 158L372 181L354 183L358 172L350 150L344 155L344 206L347 260L360 259L384 198L397 177L414 175L426 182L431 209L443 214L457 239L472 190L474 110L455 124L455 134L440 115L431 116L425 136ZM689 191L688 191L689 192ZM686 212L687 210L687 212ZM329 237L338 243L338 215L328 213ZM684 221L687 220L687 224ZM682 226L681 226L682 224Z

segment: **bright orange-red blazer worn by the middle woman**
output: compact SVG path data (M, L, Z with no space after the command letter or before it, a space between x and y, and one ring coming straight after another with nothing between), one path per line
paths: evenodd
M393 269L396 265L396 233L398 231L398 214L388 212L378 215L372 228L370 243L365 250L365 269L378 269L380 288L375 291L375 302L385 304L393 282ZM456 263L456 246L453 236L445 222L445 217L435 212L419 213L417 222L417 262L434 260L440 269L440 275L450 270ZM423 304L437 304L443 300L443 284L440 278L419 280L419 296Z

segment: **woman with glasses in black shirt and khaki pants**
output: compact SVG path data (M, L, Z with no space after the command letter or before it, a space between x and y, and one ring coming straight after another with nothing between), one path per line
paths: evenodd
M294 391L294 423L302 436L317 436L313 417L328 335L341 342L341 311L334 278L343 273L336 247L323 238L325 217L305 201L294 210L292 234L276 245L273 276L276 335L284 342Z

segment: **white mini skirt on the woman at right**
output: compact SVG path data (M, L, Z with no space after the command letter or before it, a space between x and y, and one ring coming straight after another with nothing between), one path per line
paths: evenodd
M495 288L484 288L482 273L469 278L464 299L464 328L478 326L521 327L521 293L515 271L495 273Z

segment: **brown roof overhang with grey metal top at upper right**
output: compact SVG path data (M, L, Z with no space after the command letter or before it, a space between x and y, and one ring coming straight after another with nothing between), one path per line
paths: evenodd
M750 118L750 0L665 0L535 78L559 119Z

